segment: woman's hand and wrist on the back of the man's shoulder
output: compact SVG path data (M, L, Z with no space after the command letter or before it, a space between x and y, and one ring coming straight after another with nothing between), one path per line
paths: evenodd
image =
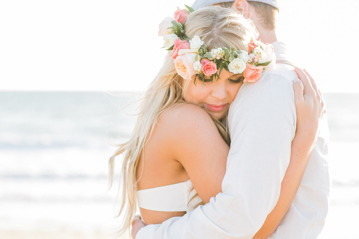
M297 111L297 133L307 138L312 147L317 138L320 119L326 113L325 102L313 78L306 70L295 67L300 80L293 82L295 108ZM298 135L299 136L299 135ZM312 148L311 147L311 148Z

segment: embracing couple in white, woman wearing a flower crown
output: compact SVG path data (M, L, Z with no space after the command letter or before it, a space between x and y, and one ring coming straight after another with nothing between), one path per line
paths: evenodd
M325 106L277 41L276 11L276 0L197 0L160 25L164 65L130 140L109 161L112 182L123 154L119 215L133 238L321 233Z

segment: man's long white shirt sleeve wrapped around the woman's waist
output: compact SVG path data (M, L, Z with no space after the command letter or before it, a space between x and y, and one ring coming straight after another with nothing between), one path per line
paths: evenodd
M228 124L232 143L222 193L183 217L145 226L136 239L250 239L261 228L289 164L296 125L292 80L267 73L244 83Z

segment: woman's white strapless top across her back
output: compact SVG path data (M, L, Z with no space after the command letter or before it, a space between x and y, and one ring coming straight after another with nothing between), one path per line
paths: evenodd
M138 206L147 210L163 212L193 211L202 200L198 195L192 199L197 193L194 188L191 190L192 187L191 180L187 180L186 182L139 190L137 191Z

